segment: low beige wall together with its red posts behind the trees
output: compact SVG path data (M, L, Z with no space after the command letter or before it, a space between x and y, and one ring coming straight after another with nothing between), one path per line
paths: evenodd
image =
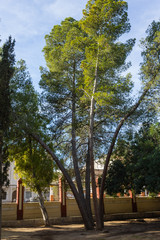
M59 179L59 183L56 186L56 190L51 189L50 202L45 202L46 209L48 210L49 217L79 217L81 216L77 203L70 196L70 192L67 193L66 187L62 179ZM54 186L51 186L52 188ZM97 191L98 193L98 191ZM24 202L24 187L22 186L21 179L17 184L17 201L16 203L5 203L2 205L2 220L22 220L22 219L35 219L42 218L39 203L37 202ZM56 197L55 197L56 196ZM67 196L72 197L71 199ZM98 195L97 195L98 196ZM57 200L57 201L54 201ZM137 197L136 198L136 210L137 212L149 212L160 211L160 197ZM92 211L93 202L91 200ZM133 199L131 197L117 197L117 198L104 198L104 214L114 213L132 213Z

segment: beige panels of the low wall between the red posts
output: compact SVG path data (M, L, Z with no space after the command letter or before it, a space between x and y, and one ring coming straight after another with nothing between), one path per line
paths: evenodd
M93 209L93 203L92 209ZM61 217L61 203L60 202L46 202L50 218ZM75 199L67 199L66 202L67 217L79 217L80 212ZM139 213L160 211L160 197L148 198L137 197L137 209ZM105 198L104 199L105 215L116 213L132 213L131 198ZM2 204L2 221L16 220L17 205L16 203ZM39 203L24 203L23 219L42 219Z

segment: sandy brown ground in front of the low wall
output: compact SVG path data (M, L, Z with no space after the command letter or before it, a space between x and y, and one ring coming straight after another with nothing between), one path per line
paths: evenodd
M3 228L2 240L159 240L160 219L105 222L102 232L85 231L82 224L50 228Z

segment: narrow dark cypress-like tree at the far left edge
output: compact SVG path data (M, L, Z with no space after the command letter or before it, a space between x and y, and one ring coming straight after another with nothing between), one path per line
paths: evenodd
M14 73L14 45L11 37L5 42L0 53L0 239L1 239L1 218L2 218L2 185L6 181L7 145L4 139L7 137L10 126L10 80ZM5 166L4 166L4 165ZM2 169L3 167L3 169ZM2 174L5 171L5 173Z

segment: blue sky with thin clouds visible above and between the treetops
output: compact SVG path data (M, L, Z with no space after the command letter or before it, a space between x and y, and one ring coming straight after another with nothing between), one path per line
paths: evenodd
M160 0L127 0L131 31L125 37L136 38L129 60L136 89L141 61L139 40L153 20L160 20ZM80 19L87 0L0 0L0 35L2 43L11 35L16 40L16 59L24 59L37 90L39 67L45 66L42 49L44 36L66 17Z

